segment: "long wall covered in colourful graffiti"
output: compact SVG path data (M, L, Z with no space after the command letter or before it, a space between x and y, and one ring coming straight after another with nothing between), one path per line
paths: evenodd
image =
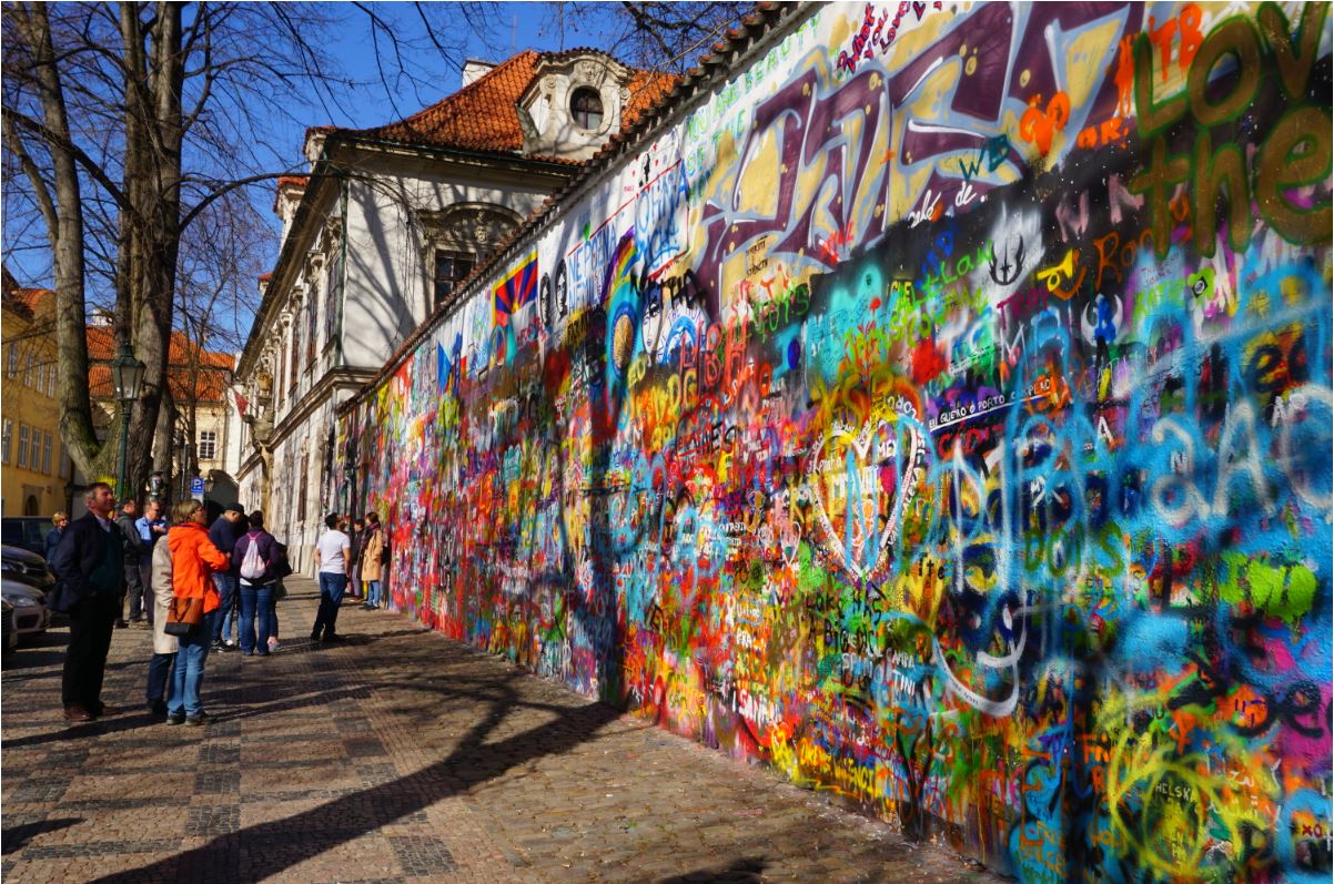
M1331 873L1327 4L836 5L340 428L395 604L1025 881Z

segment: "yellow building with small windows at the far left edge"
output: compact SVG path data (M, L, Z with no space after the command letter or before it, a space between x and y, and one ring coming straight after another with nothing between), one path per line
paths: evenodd
M4 275L0 412L4 419L3 515L51 516L69 508L69 459L56 400L55 293Z

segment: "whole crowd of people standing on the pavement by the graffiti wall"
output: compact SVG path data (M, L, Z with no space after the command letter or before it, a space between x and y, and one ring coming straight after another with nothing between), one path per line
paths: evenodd
M200 691L209 651L267 657L279 649L276 605L285 595L283 577L292 572L287 548L264 529L263 512L245 515L239 504L228 504L205 528L207 509L197 500L176 504L169 525L156 500L139 519L135 503L124 501L113 517L115 495L105 483L92 484L84 503L88 515L71 523L56 513L47 537L57 580L52 607L69 615L61 680L65 719L81 723L108 715L101 683L112 632L144 624L153 631L149 712L167 724L204 724ZM388 543L375 513L351 527L335 513L325 525L315 547L320 607L311 639L328 643L340 639L338 611L350 579L364 607L383 604ZM187 635L169 635L172 603L191 599L201 601L201 623ZM233 625L235 640L228 637Z

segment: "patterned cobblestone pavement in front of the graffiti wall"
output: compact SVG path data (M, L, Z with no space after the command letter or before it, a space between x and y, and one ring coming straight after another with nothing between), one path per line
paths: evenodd
M21 881L992 881L822 795L315 584L271 657L213 653L203 728L143 707L117 629L113 715L60 713L65 631L7 661L3 863Z

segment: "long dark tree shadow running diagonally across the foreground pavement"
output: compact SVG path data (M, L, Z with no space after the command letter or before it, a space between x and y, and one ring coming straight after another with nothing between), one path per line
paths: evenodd
M263 880L299 863L329 851L339 844L392 824L423 811L452 795L502 776L506 771L532 759L559 755L594 737L598 731L620 717L620 712L602 703L560 708L554 721L487 743L487 737L520 703L512 681L531 677L524 672L506 673L494 683L490 713L475 724L448 757L410 776L347 795L303 813L261 823L239 832L219 835L197 848L149 865L96 879L103 884L133 884L144 880L212 880L219 865L235 863L237 844L263 844L277 849L249 853L247 876ZM442 703L451 691L442 691ZM499 696L496 696L499 695ZM292 839L291 832L301 832ZM748 880L748 879L738 879Z

